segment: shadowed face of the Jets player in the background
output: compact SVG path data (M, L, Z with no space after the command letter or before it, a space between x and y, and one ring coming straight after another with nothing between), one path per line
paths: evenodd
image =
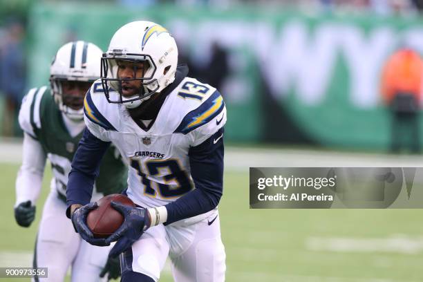
M91 82L62 81L63 104L74 110L82 109L86 91L91 84Z

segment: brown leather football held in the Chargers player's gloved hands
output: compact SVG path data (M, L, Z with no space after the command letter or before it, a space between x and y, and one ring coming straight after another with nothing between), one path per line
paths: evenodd
M110 205L112 201L135 207L133 201L122 194L111 194L97 200L97 209L89 212L86 218L86 223L95 238L109 237L123 223L122 214Z

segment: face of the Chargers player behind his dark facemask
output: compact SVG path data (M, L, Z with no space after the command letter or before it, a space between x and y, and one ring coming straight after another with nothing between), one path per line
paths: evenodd
M136 79L144 77L147 68L145 62L132 61L117 61L118 64L118 78L120 79ZM124 97L131 97L138 94L141 87L140 80L123 80L122 81L122 95Z

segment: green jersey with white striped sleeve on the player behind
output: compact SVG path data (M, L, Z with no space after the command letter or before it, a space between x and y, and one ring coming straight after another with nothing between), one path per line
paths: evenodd
M75 137L68 133L62 112L46 86L32 88L23 98L19 124L23 131L41 144L53 169L52 189L57 190L59 198L66 200L68 174L82 132ZM100 165L93 199L120 193L126 188L126 178L127 167L118 150L111 146Z

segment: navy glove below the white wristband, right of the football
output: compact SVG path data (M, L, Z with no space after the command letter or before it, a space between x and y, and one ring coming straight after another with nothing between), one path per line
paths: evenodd
M150 227L151 221L147 209L128 207L113 201L111 206L124 216L122 225L106 239L106 243L109 244L118 241L109 252L110 257L116 257L138 241L142 233Z

